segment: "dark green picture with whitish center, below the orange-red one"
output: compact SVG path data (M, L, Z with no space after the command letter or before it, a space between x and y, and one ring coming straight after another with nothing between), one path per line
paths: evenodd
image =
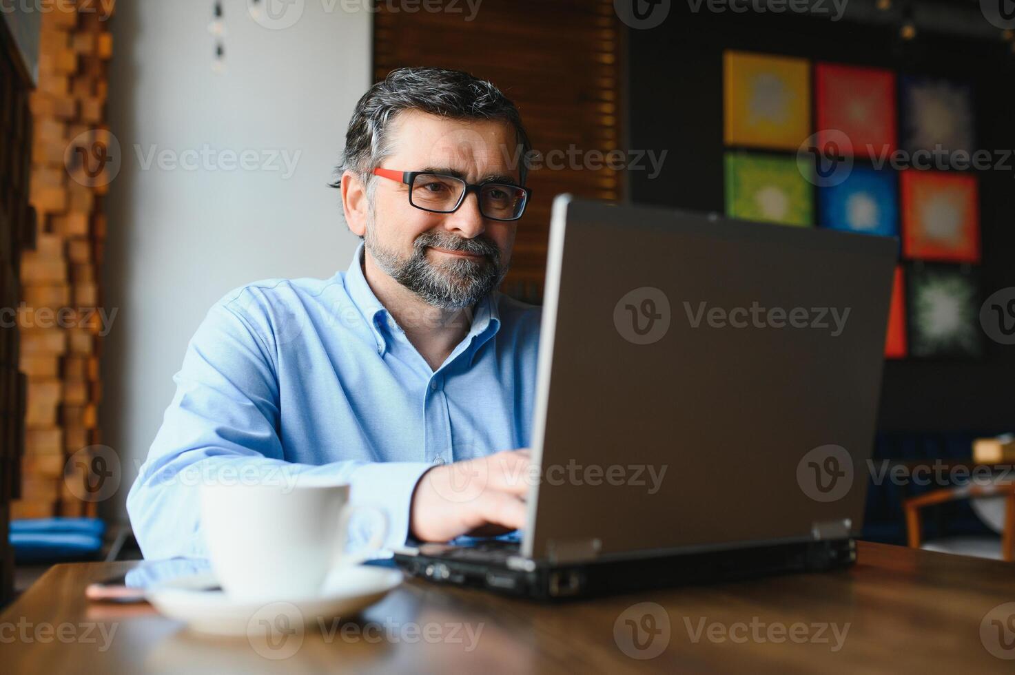
M980 356L979 286L972 269L917 263L905 277L909 355Z

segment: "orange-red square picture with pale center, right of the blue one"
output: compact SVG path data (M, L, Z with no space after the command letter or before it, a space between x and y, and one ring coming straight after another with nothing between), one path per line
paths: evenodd
M975 176L907 168L899 174L902 255L979 262L979 192Z

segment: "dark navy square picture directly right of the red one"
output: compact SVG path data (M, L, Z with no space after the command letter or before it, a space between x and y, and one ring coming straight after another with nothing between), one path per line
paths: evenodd
M974 150L972 87L932 77L902 77L899 95L907 150Z

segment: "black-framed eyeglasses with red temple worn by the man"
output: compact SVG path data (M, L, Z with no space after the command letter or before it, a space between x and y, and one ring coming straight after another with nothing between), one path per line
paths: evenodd
M431 213L454 213L462 206L466 195L474 191L479 198L479 212L490 220L521 218L532 192L511 183L469 185L454 176L428 172L375 168L374 175L409 186L409 203Z

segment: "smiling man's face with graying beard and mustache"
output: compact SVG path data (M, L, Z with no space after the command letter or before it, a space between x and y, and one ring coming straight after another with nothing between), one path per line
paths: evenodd
M515 130L505 122L446 120L407 111L389 129L393 152L381 167L458 176L468 184L518 184ZM500 283L515 244L514 221L484 218L470 193L454 213L409 203L409 186L381 177L364 240L378 267L429 305L462 309Z

